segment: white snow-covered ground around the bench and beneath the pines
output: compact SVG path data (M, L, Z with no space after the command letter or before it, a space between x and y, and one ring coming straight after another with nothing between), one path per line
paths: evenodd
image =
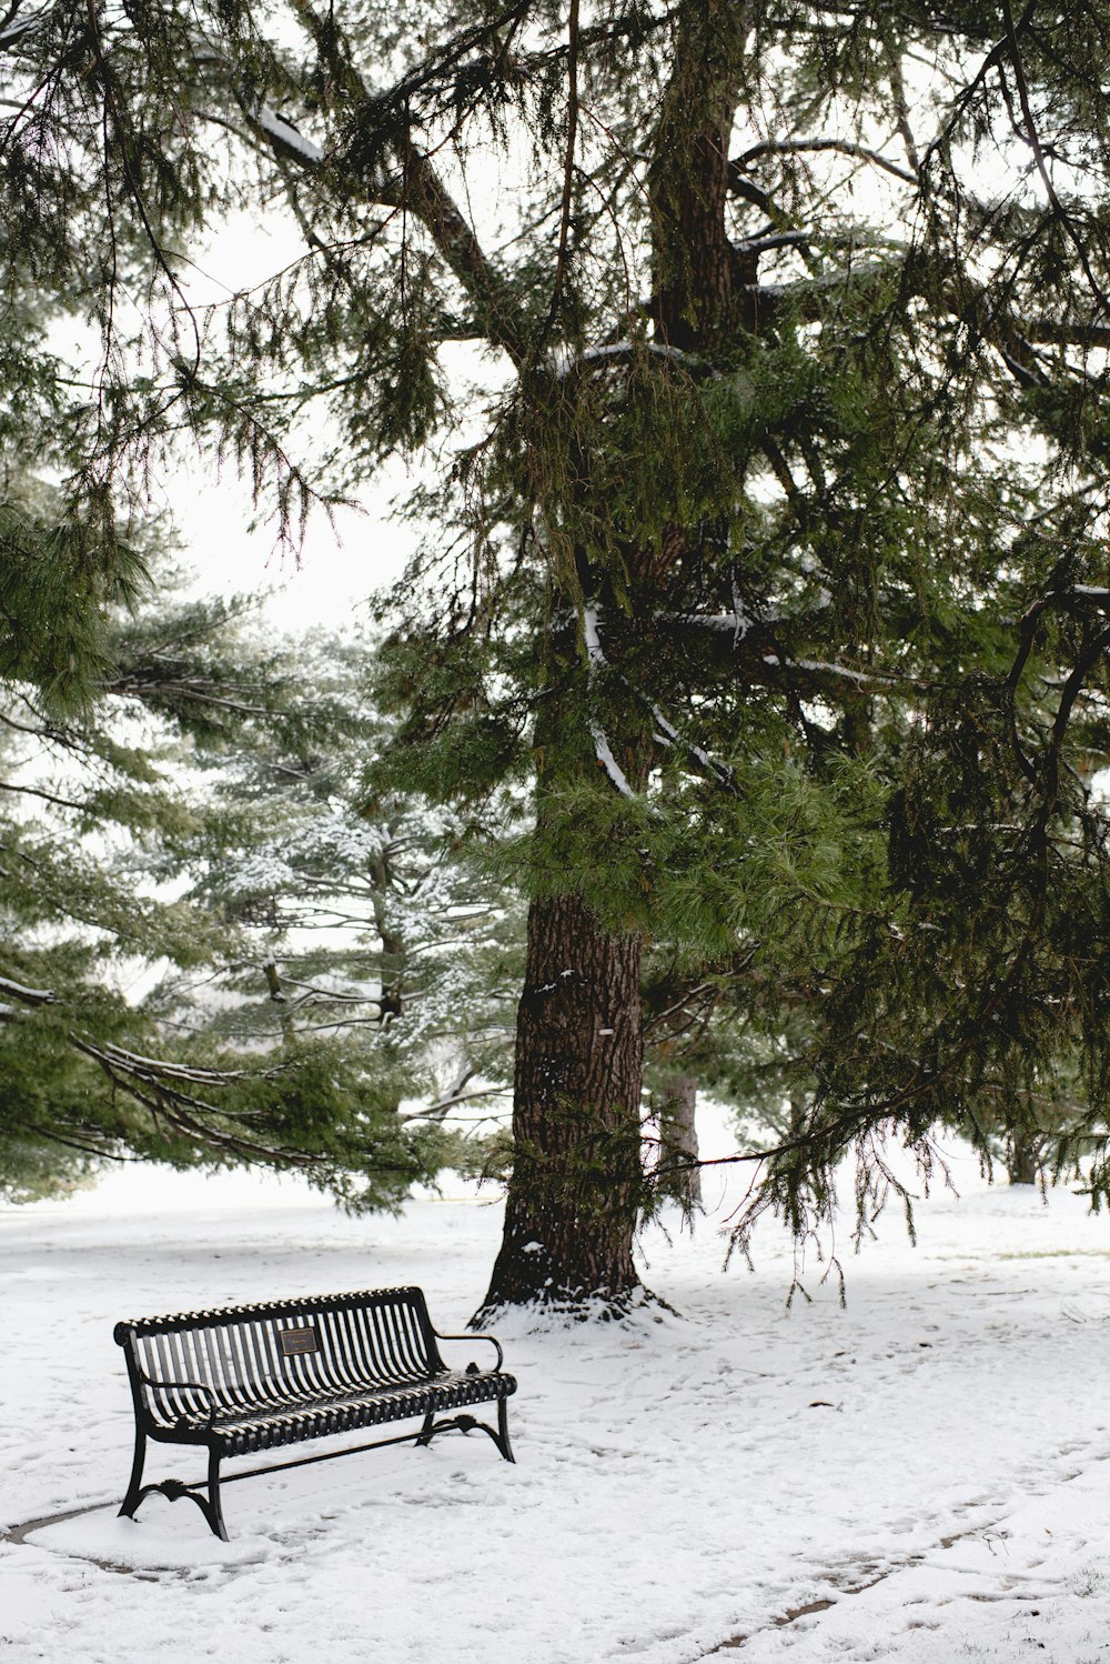
M0 1664L1108 1661L1110 1221L957 1181L847 1260L844 1311L816 1266L784 1310L774 1228L754 1273L720 1213L653 1233L681 1316L500 1326L517 1466L449 1434L253 1479L228 1544L191 1503L116 1519L115 1320L415 1281L460 1330L499 1206L130 1170L0 1210Z

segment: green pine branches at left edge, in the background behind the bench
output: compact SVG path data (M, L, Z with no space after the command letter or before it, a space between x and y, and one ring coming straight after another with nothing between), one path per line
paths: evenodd
M357 967L332 953L292 998L282 930L214 877L256 820L244 777L327 754L347 689L261 646L234 604L174 604L165 579L153 609L66 602L42 594L60 574L25 539L7 574L0 1193L153 1158L296 1168L395 1208L452 1138L399 1112L419 1068L384 1032L381 943Z

